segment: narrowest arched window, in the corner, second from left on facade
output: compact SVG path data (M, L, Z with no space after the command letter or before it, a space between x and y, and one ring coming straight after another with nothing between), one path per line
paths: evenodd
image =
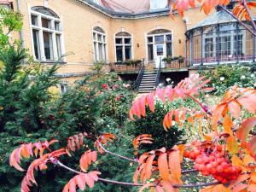
M107 61L106 34L101 27L93 28L94 61Z

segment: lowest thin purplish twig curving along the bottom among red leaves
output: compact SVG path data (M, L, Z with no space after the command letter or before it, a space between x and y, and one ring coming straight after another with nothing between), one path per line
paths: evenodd
M56 166L61 166L64 169L67 169L69 172L74 172L76 174L82 174L84 172L78 172L68 166L65 166L64 164L61 163L60 160L55 161ZM141 187L144 185L144 183L127 183L127 182L119 182L119 181L113 181L110 179L106 178L98 178L99 181L103 183L113 183L113 184L119 184L119 185L125 185L125 186L134 186L134 187ZM172 187L174 188L196 188L196 187L206 187L206 186L211 186L211 185L217 185L219 182L212 182L212 183L195 183L195 184L173 184Z

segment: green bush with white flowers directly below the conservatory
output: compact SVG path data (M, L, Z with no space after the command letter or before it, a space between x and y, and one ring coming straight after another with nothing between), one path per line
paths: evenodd
M256 87L255 65L222 65L217 69L209 71L201 71L201 74L211 79L210 86L215 90L213 94L223 95L231 86L239 87Z

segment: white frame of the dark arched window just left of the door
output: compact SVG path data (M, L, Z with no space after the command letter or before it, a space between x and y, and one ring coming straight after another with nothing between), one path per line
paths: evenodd
M116 38L121 38L122 39L122 43L121 44L116 44ZM130 38L131 41L130 41L130 44L125 44L125 38ZM121 46L122 47L122 55L123 55L123 61L125 61L125 46L131 46L131 58L130 60L133 60L133 45L132 45L132 36L130 34L130 36L116 36L114 35L113 37L113 40L114 40L114 53L115 53L115 61L118 62L117 60L117 53L116 53L116 47L117 46Z

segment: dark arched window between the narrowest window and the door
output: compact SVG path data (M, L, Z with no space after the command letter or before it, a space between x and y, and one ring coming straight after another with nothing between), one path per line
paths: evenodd
M119 32L115 35L115 55L116 61L127 61L132 59L131 34L128 32Z

